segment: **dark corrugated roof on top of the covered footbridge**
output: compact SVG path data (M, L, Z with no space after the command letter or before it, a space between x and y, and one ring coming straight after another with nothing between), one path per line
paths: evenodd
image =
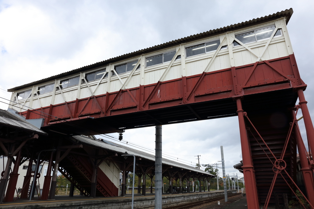
M184 37L184 38L181 38L181 39L176 39L176 40L173 40L173 41L166 42L164 44L155 45L155 46L152 46L152 47L149 47L149 48L146 48L146 49L137 50L135 52L131 52L131 53L128 53L128 54L117 56L117 57L114 57L114 58L111 58L111 59L108 59L108 60L104 60L104 61L101 61L101 62L96 62L95 64L87 65L87 66L84 66L84 67L81 67L81 68L78 68L78 69L74 69L72 71L60 73L60 74L58 74L56 76L51 76L51 77L48 77L48 78L41 79L39 81L34 81L34 82L31 82L31 83L28 83L28 84L24 84L22 86L17 86L17 87L8 89L8 91L9 92L14 92L14 91L17 91L19 89L23 89L23 88L26 88L26 87L38 85L40 83L47 82L47 81L52 81L52 80L59 79L59 78L65 77L65 76L70 76L70 75L73 75L73 74L76 74L76 73L79 73L79 72L82 72L82 71L87 71L87 70L90 70L90 69L93 69L93 68L96 68L96 67L108 65L110 63L114 63L114 62L118 62L118 61L125 60L125 59L128 59L128 58L136 57L136 56L139 56L139 55L142 55L142 54L154 52L154 51L157 51L157 50L162 50L162 49L165 49L165 48L168 48L168 47L171 47L171 46L176 46L176 45L182 44L182 43L188 43L188 42L195 41L195 40L198 40L198 39L208 38L208 37L211 37L211 36L214 36L214 35L219 35L219 34L225 33L227 31L238 30L238 29L246 28L246 27L253 26L253 25L256 25L256 24L269 22L271 20L275 20L275 19L278 19L278 18L281 18L281 17L286 17L286 23L288 23L292 13L293 13L293 10L292 10L292 8L290 8L290 9L286 9L286 10L281 11L281 12L273 13L273 14L270 14L268 16L264 16L264 17L261 17L261 18L256 18L256 19L252 19L252 20L245 21L245 22L242 22L242 23L229 25L229 26L226 26L226 27L223 27L223 28L209 30L209 31L206 31L206 32L203 32L203 33L190 35L190 36L187 36L187 37Z

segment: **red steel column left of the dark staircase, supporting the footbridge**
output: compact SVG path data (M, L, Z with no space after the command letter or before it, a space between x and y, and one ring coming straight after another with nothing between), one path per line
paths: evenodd
M253 167L253 161L251 157L251 148L249 144L249 139L246 134L246 127L244 123L244 115L242 110L241 98L236 99L236 105L238 108L238 119L240 128L240 138L241 138L241 149L242 149L242 159L243 159L243 175L246 187L247 196L247 208L259 209L258 199L257 199L257 189L255 180L255 171Z

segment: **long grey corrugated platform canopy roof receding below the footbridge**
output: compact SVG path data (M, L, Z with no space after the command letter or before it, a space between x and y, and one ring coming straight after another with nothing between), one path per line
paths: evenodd
M116 144L116 145L111 145L111 144L107 144L105 141L94 140L94 139L91 139L91 138L88 138L88 137L85 137L82 135L81 136L72 136L72 137L75 138L76 140L78 140L79 142L84 143L84 144L92 145L92 146L99 147L102 149L108 149L108 150L111 150L111 151L114 151L114 152L117 152L120 154L127 152L128 154L134 154L135 156L140 157L140 158L155 161L155 156L152 154L148 154L146 152L142 152L142 151L139 151L137 149L132 149L132 148L129 148L126 146L122 146L120 144L116 144L116 143L111 142L112 144ZM206 175L212 175L212 174L209 174L203 170L194 168L192 166L177 163L176 161L165 159L165 158L162 158L162 164L175 166L178 168L183 168L186 170L191 170L191 171L206 174ZM214 176L214 175L212 175L212 176Z

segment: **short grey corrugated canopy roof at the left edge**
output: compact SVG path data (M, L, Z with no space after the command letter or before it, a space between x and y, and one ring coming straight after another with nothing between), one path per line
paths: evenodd
M3 124L4 126L14 126L20 129L26 129L28 131L47 135L47 133L41 129L38 129L18 116L15 116L13 113L2 109L0 109L0 124Z

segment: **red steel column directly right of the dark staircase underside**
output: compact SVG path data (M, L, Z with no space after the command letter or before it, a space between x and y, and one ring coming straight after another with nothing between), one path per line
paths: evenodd
M306 150L304 149L304 144L300 135L299 126L296 125L295 127L296 132L296 140L299 150L300 156L300 163L301 163L301 171L303 174L304 185L306 189L307 198L310 203L314 204L314 180L313 180L313 173L307 161Z

